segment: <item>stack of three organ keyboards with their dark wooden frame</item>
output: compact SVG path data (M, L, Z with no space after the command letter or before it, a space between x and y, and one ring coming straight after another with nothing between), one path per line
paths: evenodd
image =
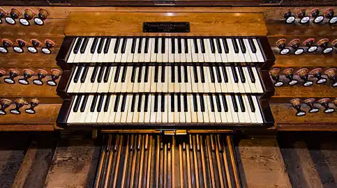
M143 28L144 31L144 28ZM66 36L57 56L61 127L271 127L266 37Z

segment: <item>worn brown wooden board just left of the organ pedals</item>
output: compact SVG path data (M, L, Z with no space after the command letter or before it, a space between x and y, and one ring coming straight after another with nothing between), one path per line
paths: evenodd
M60 141L54 152L45 187L92 187L100 147L91 140Z

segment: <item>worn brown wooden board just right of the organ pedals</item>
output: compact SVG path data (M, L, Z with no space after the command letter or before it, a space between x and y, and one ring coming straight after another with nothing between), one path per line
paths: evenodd
M276 139L243 139L236 149L244 187L291 187Z

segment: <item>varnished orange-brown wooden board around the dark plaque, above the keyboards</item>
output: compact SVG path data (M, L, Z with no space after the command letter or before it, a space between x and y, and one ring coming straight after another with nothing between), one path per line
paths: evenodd
M190 22L190 33L142 33L143 22ZM267 36L267 28L258 13L70 13L64 33L66 36Z

